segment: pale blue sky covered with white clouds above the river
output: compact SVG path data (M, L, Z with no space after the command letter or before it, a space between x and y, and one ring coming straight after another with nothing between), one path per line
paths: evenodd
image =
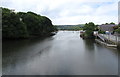
M54 25L118 23L118 0L1 0L0 6L47 16Z

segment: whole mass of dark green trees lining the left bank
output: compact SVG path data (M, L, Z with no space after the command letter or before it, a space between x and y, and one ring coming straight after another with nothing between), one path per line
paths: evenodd
M33 12L14 12L2 8L3 38L26 38L49 35L56 28L49 18Z

